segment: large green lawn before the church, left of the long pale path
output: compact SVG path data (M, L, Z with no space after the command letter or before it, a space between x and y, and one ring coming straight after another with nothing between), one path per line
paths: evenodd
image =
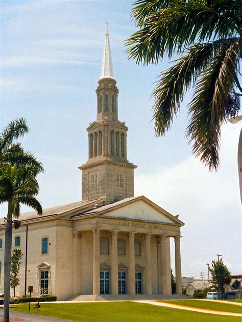
M39 311L33 309L30 313L45 316L59 317L81 322L233 322L241 321L236 316L220 316L204 314L155 305L134 302L98 302L98 303L71 303L49 304L41 303ZM29 304L20 303L14 311L29 313Z

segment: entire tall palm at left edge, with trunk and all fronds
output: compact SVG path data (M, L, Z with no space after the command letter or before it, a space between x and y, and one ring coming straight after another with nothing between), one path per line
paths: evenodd
M20 143L14 142L14 140L28 133L28 131L29 128L26 120L19 118L11 121L0 134L0 171L2 177L2 181L0 181L0 203L8 201L4 261L5 320L9 319L12 224L14 224L15 229L20 226L20 223L17 220L12 220L12 218L19 216L20 202L32 206L37 210L37 213L42 213L41 206L34 197L38 193L38 183L35 177L44 171L43 166L36 160L33 154L23 150ZM7 169L9 171L9 179L7 177ZM22 178L20 178L20 174L22 174ZM14 175L16 175L16 178ZM17 189L15 192L13 191L14 187ZM15 197L12 198L11 194ZM8 196L10 196L9 200Z

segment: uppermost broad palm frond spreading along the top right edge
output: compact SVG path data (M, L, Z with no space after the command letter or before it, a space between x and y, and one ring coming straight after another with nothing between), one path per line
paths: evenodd
M142 19L137 8L133 15L140 17L138 26L141 29L126 41L129 59L134 59L137 64L157 64L164 53L171 57L174 51L184 50L196 39L208 42L215 37L235 36L231 10L223 10L226 5L232 6L231 0L217 0L210 6L203 1L175 1L154 12L148 10L147 15L142 13ZM242 14L242 9L240 12Z

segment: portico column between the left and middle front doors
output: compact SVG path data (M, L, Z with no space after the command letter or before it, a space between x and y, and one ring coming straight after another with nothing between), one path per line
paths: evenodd
M118 257L117 257L117 230L112 230L111 245L111 292L118 294Z

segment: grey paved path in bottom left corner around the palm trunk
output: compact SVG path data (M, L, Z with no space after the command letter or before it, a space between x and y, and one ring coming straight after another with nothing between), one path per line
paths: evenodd
M0 309L0 320L4 319L4 310ZM73 320L62 320L60 318L35 315L23 312L16 312L10 309L10 322L22 321L22 322L73 322Z

